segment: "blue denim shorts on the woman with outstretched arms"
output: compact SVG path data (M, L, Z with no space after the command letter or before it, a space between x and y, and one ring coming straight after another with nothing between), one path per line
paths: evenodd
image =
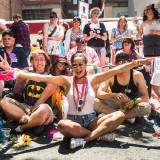
M84 128L88 128L89 124L93 120L97 119L97 117L96 117L96 112L93 112L93 113L84 114L84 115L71 115L71 114L68 114L67 115L67 119L70 119L70 120L80 124Z

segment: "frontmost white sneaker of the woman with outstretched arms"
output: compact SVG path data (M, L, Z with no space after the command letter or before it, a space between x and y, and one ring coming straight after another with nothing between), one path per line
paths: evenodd
M70 148L74 149L74 148L79 147L79 146L82 146L82 148L84 148L85 144L86 144L86 141L84 141L83 138L71 138Z

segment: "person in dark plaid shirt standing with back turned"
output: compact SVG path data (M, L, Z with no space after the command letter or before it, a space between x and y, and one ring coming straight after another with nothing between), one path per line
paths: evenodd
M25 56L28 58L31 52L31 41L29 26L22 20L20 14L15 14L13 16L14 23L11 25L10 29L15 37L15 45L20 44L25 51Z

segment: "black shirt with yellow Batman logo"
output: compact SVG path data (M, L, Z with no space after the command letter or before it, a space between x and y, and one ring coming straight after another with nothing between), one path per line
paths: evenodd
M34 106L34 104L40 98L46 86L46 82L36 82L29 80L25 87L24 103L28 104L29 106ZM45 103L51 106L51 97L48 98Z

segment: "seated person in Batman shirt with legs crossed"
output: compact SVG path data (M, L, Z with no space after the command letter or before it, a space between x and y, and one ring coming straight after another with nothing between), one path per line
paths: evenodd
M47 75L50 69L48 55L37 50L30 56L34 72ZM44 125L53 122L54 115L51 109L51 95L56 86L46 82L32 81L27 78L20 78L24 81L24 103L11 98L4 98L1 107L9 119L19 121L22 125L13 128L15 132L23 132L33 128L35 134L40 134Z

